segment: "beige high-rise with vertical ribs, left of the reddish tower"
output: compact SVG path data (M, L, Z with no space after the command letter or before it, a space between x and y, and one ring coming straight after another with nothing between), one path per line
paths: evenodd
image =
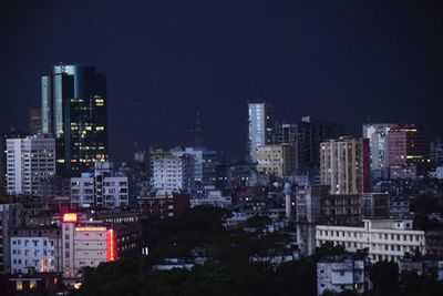
M369 192L369 141L341 136L320 144L320 182L332 194Z

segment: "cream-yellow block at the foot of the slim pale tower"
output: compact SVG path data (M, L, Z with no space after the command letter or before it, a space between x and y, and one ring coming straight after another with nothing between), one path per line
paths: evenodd
M257 147L257 171L284 177L293 173L293 147L289 144L262 145Z

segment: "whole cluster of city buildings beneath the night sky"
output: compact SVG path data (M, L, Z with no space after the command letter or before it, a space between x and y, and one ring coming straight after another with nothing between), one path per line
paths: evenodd
M411 182L443 178L442 141L421 126L368 123L360 137L346 136L336 122L281 122L272 105L249 103L244 162L225 163L196 136L184 149L136 147L114 166L105 76L55 65L41 86L30 133L11 130L0 141L0 188L9 196L0 204L0 273L18 288L30 268L76 285L86 266L146 255L142 220L205 205L231 212L226 227L256 215L293 222L297 257L324 243L354 254L318 263L319 295L363 293L374 262L443 256L443 232L414 228L404 194Z

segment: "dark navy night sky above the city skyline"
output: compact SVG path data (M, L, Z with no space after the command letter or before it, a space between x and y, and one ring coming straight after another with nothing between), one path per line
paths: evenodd
M443 134L443 1L1 1L0 130L28 126L60 62L106 74L114 160L190 142L196 110L239 155L261 99L350 134L368 115Z

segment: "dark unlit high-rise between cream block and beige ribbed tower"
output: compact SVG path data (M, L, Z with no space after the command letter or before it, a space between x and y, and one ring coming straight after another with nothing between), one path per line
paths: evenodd
M297 126L298 170L315 175L320 167L320 143L339 137L343 127L334 122L311 120L310 116L303 116Z

